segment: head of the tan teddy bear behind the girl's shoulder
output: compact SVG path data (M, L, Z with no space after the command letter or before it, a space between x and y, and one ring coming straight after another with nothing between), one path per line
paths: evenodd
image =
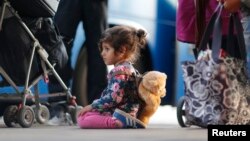
M167 75L159 71L149 71L143 77L139 84L139 96L146 101L150 95L164 97L166 95Z

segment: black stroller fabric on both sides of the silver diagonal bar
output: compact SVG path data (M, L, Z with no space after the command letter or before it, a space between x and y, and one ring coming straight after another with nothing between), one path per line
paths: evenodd
M68 62L68 54L52 18L22 17L22 20L48 52L50 63L56 64L57 71L62 69ZM34 41L17 17L8 15L3 20L0 31L0 65L16 85L25 84L33 44ZM38 54L35 53L30 80L42 73L38 59Z

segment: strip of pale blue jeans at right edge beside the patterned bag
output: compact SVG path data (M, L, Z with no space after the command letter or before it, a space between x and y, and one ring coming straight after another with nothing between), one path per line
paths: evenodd
M247 51L247 73L250 76L250 16L241 19Z

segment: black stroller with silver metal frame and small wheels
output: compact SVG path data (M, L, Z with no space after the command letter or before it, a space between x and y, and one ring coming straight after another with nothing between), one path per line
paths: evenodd
M59 0L0 0L2 4L0 7L0 33L4 32L4 24L5 26L10 26L15 23L15 26L12 26L6 34L17 37L11 40L10 43L6 43L8 47L0 45L0 53L2 53L0 55L0 75L2 77L0 86L8 85L15 90L15 94L0 94L0 97L3 96L0 100L10 101L11 103L11 105L5 108L3 113L3 120L7 127L15 127L16 124L19 124L23 128L28 128L32 126L34 121L40 124L48 121L50 112L48 105L40 102L41 96L39 95L38 83L43 79L47 81L49 75L54 76L64 91L44 95L44 97L66 96L65 101L58 103L64 105L65 110L70 114L72 122L76 124L76 115L81 106L77 105L76 98L71 95L70 89L56 72L55 65L52 65L49 61L50 56L47 50L44 49L40 41L38 41L34 33L21 18L23 15L32 18L53 17L56 8L53 5L58 4L58 2ZM13 30L16 30L14 31L15 33ZM4 35L0 34L0 41L2 42L5 42L3 39L5 38ZM12 43L17 44L16 42L20 42L23 45L19 43L20 46L12 47ZM8 50L10 51L8 52ZM8 55L7 53L12 54ZM15 59L16 61L8 62L8 59ZM25 61L27 63L22 64ZM21 64L22 68L15 68L13 67L15 64L10 63L16 63L19 66ZM12 66L15 70L10 70L8 66ZM23 86L23 90L20 90L18 86ZM9 97L10 95L15 95L16 97Z

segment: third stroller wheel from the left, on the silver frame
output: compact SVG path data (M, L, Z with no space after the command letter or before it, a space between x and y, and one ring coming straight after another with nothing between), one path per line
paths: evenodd
M32 105L32 109L35 112L35 118L38 123L45 124L49 121L50 112L47 106L40 105L40 108L38 109L35 105Z

